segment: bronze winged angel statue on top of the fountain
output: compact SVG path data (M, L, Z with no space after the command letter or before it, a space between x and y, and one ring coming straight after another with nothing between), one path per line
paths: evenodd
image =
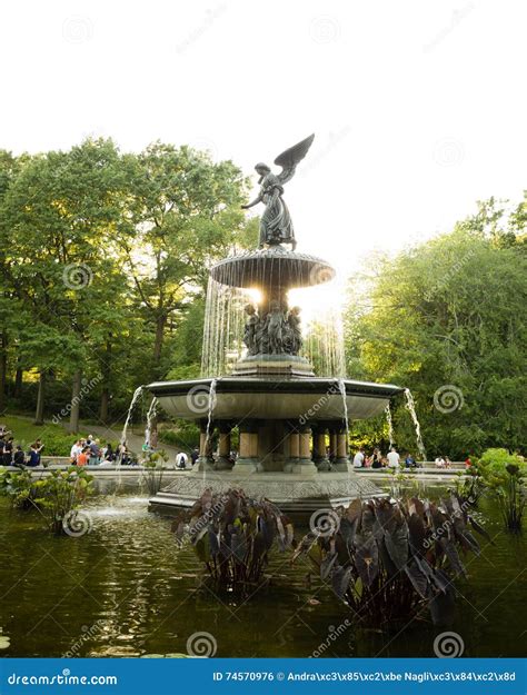
M260 175L258 180L261 186L260 192L252 202L241 207L247 210L259 202L266 206L260 219L259 248L262 248L265 244L276 246L285 242L290 244L295 250L297 242L292 220L282 199L284 183L292 179L298 162L306 157L314 139L315 135L309 136L275 159L275 163L282 168L280 173L272 173L270 168L262 162L256 165L255 169Z

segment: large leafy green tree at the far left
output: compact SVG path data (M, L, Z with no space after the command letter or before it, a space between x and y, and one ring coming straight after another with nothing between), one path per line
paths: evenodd
M90 364L101 331L121 316L126 282L112 248L128 180L120 163L110 140L30 158L0 208L2 280L30 317L20 334L21 354L27 367L39 369L40 390L49 369L71 379L73 431L82 366Z

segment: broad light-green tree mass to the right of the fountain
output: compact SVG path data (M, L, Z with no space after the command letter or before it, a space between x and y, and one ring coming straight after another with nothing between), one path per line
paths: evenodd
M429 451L525 446L524 209L480 203L451 234L378 260L359 306L350 286L348 374L409 387ZM412 448L402 407L395 426Z

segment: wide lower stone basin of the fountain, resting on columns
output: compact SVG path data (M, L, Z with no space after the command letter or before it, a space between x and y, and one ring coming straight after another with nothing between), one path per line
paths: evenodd
M210 397L211 386L212 398ZM147 387L173 417L183 419L365 419L382 413L391 396L404 389L392 384L350 379L252 377L156 381ZM346 407L344 393L346 390ZM212 403L210 403L212 401Z

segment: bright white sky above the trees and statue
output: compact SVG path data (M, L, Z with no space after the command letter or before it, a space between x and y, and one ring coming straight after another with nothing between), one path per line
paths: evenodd
M340 275L526 186L525 0L17 0L0 7L0 147L161 139L286 187L298 250Z

